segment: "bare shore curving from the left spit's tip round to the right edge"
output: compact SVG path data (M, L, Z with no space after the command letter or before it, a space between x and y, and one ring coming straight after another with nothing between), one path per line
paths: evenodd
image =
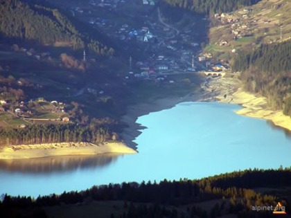
M134 143L134 140L141 134L141 130L146 127L137 123L136 120L148 113L170 109L181 102L218 101L241 105L243 109L235 111L237 114L252 118L263 118L272 122L274 126L291 132L291 118L285 116L283 111L273 111L270 109L267 105L267 98L243 91L237 74L224 78L205 77L205 81L200 84L200 87L202 91L193 91L183 98L168 97L153 100L151 103L138 103L129 107L127 113L121 119L127 125L121 134L122 141L127 146L137 149L138 145Z

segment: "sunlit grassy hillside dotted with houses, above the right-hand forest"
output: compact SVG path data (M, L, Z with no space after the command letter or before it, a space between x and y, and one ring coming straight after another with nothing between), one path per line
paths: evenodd
M210 18L213 27L209 30L209 42L213 46L206 47L206 51L229 59L233 57L233 49L239 53L261 44L288 41L291 39L290 11L290 0L262 0L228 14L213 15ZM218 46L222 41L227 44Z

